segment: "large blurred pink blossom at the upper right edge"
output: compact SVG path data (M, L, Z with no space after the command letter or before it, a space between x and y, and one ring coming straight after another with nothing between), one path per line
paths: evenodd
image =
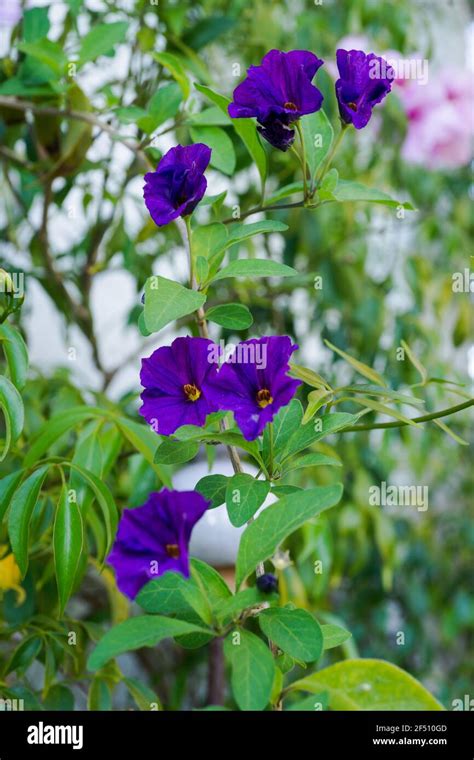
M426 85L399 90L408 118L402 156L427 169L456 169L472 158L474 86L468 71L447 68Z

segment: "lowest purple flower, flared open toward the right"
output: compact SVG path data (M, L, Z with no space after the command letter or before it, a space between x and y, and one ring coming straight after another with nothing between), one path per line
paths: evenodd
M123 594L134 599L145 583L168 570L189 578L189 540L210 503L196 491L165 489L123 511L108 557Z

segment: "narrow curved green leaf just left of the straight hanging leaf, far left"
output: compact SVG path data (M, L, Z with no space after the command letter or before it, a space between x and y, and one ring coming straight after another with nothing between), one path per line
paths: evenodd
M8 515L8 535L22 577L28 569L30 520L49 465L39 467L15 492Z

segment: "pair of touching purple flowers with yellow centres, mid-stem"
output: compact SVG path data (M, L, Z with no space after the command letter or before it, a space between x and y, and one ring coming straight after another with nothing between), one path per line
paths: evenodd
M211 412L231 411L252 441L295 395L300 381L287 373L297 348L287 336L243 341L219 368L211 340L176 338L142 360L140 414L156 432L172 435L181 425L204 425ZM257 360L262 355L264 362Z

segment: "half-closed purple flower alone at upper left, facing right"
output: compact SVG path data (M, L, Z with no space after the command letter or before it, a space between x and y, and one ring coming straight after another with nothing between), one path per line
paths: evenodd
M206 192L204 172L210 159L211 149L203 143L177 145L163 156L155 172L145 174L143 197L158 227L192 214Z

